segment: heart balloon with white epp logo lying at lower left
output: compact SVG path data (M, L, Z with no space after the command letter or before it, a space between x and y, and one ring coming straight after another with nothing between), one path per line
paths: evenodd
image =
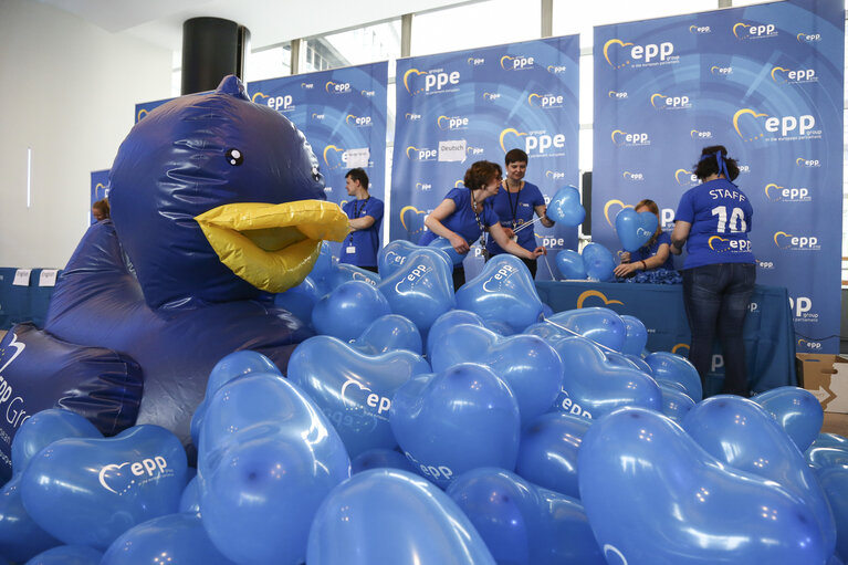
M134 525L177 512L186 467L179 439L158 426L61 439L30 459L21 496L52 536L105 550Z

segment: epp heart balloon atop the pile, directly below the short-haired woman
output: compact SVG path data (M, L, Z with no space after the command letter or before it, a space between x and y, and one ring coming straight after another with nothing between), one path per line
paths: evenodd
M503 253L457 291L457 307L520 333L538 320L542 301L527 266L517 257Z

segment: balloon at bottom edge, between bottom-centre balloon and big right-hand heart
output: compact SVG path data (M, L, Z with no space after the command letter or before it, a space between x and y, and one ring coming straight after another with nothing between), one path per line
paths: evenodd
M580 503L503 469L474 469L446 491L498 563L604 565Z

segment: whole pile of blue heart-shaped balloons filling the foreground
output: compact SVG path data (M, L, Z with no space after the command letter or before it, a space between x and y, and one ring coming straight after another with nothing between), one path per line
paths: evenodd
M848 557L848 440L808 391L703 399L607 308L552 314L524 264L392 242L322 257L286 375L221 359L179 440L46 410L14 437L0 555L75 564L821 564ZM292 308L294 310L294 308ZM2 563L2 561L0 561Z

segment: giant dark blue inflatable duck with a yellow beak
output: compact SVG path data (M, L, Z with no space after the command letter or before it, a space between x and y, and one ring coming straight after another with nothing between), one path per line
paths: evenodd
M59 404L91 417L86 402L108 396L101 419L126 420L137 409L127 423L164 426L188 443L192 411L221 357L253 349L285 372L294 346L312 335L271 293L299 284L322 240L342 241L347 217L325 201L303 134L251 103L234 76L138 122L109 184L112 220L83 237L56 284L45 332L13 328L0 344L0 379L17 380L19 390L40 383L27 390L31 408ZM113 362L111 380L88 378L87 395L73 383L57 390L61 372L50 380L44 359L92 347ZM137 383L115 376L121 360L127 374L133 362L140 367L140 407Z

